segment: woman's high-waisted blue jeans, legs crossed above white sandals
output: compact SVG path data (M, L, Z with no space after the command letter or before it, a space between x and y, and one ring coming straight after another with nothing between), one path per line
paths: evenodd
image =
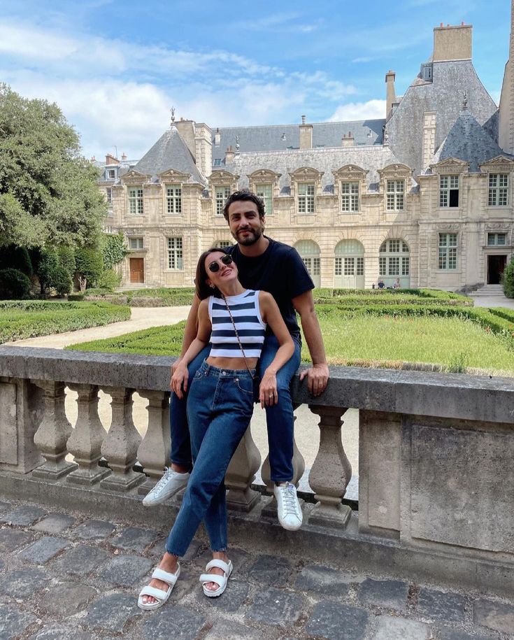
M184 555L202 520L211 550L227 548L224 476L252 411L253 381L248 371L201 364L187 398L193 470L166 541L168 553Z

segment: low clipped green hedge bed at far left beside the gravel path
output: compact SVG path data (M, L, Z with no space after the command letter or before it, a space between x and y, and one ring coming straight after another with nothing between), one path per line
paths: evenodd
M0 344L129 320L127 306L44 300L0 303Z

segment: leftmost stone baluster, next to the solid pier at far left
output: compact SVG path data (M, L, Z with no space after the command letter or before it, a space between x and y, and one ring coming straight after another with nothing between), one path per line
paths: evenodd
M43 389L43 420L34 435L34 444L46 462L32 471L36 478L57 480L76 469L75 462L66 462L66 441L71 436L71 425L64 412L64 383L53 380L32 381Z

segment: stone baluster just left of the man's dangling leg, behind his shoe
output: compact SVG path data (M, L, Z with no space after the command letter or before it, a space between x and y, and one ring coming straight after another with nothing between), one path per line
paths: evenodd
M138 460L143 465L145 483L138 487L140 495L146 495L169 467L171 439L169 431L169 391L138 391L148 399L148 429L138 448Z

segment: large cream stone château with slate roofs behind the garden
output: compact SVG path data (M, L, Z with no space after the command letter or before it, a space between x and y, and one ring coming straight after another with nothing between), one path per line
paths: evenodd
M173 118L138 162L106 157L105 226L129 247L122 284L192 286L199 254L232 243L222 208L243 187L317 286L499 283L514 243L514 81L509 61L497 108L473 68L471 32L434 29L403 97L389 71L383 120L211 128Z

